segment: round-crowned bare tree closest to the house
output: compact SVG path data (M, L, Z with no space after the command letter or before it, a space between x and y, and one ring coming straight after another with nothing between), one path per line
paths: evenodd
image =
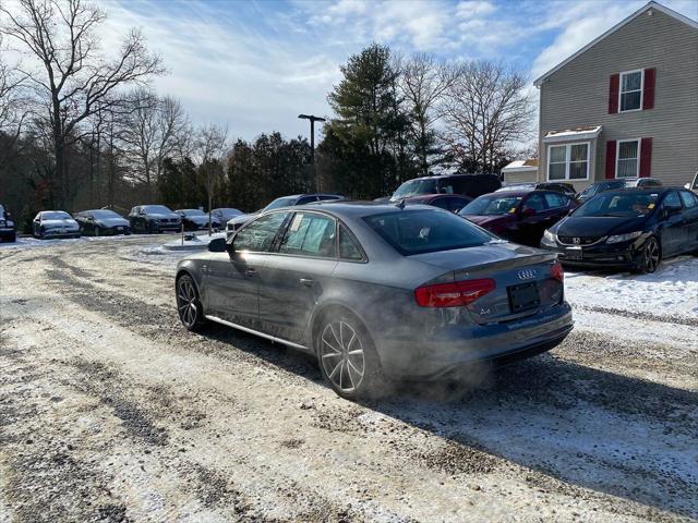
M527 76L503 63L469 63L448 89L444 136L461 168L494 172L513 145L530 136L533 100Z

